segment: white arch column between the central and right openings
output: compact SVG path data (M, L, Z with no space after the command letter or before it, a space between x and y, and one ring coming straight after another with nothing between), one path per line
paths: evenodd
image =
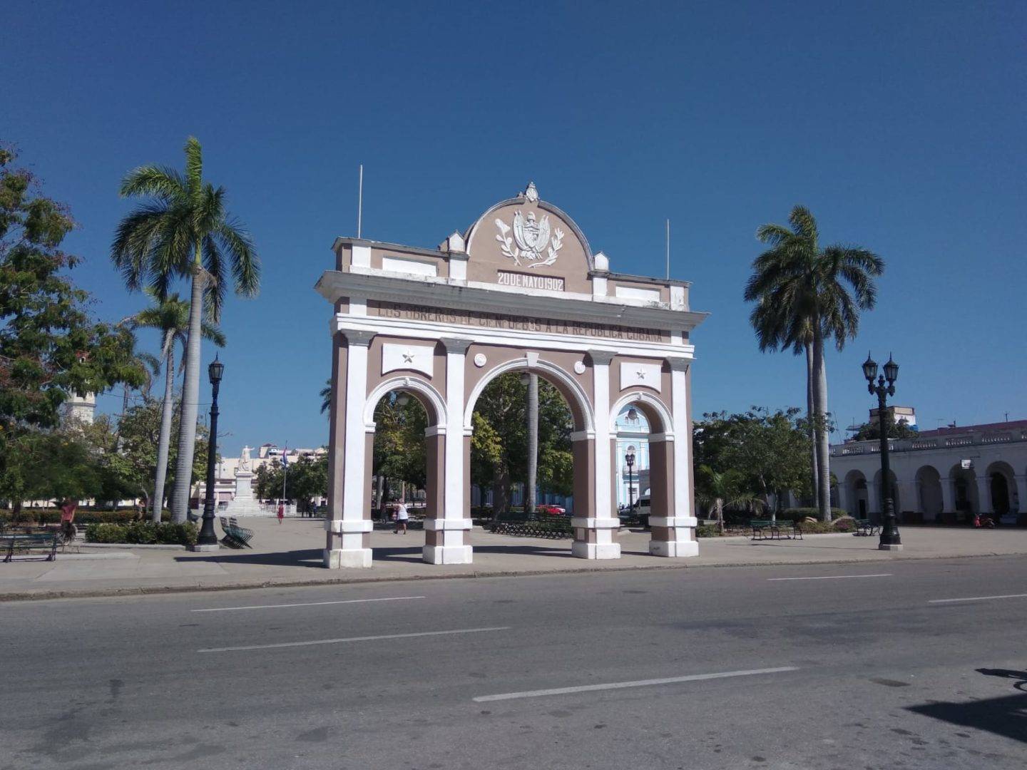
M614 355L606 350L588 351L594 382L593 414L596 415L595 465L591 474L596 507L586 516L571 518L575 532L571 553L579 559L620 559L620 543L614 540L620 519L613 512L613 435L608 421L602 419L610 413L610 361Z

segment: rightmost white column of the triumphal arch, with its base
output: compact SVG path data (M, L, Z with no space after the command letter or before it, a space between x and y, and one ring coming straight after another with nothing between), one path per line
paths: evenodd
M649 552L654 556L695 556L699 544L695 541L697 524L692 511L691 487L691 430L688 414L687 358L668 358L671 365L671 416L674 421L674 440L665 445L673 453L670 463L674 473L674 494L667 516L650 516L652 539ZM650 438L650 441L652 438Z

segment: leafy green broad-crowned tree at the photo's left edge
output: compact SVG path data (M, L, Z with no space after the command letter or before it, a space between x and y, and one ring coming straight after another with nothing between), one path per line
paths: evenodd
M131 333L96 322L88 293L68 277L80 262L61 248L71 214L14 159L0 148L0 495L17 509L32 480L23 461L63 447L35 435L59 424L62 403L119 383L138 387L146 376Z

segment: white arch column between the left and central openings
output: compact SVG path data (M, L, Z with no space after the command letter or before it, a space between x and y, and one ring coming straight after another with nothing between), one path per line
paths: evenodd
M443 504L439 515L424 522L424 561L428 564L471 564L465 541L471 519L465 517L464 496L470 493L464 475L464 372L470 340L444 338L446 346L446 425L438 431L443 454Z

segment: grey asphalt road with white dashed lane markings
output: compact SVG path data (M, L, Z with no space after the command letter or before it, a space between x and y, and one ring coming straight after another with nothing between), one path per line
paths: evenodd
M8 603L0 623L0 768L1027 765L1023 557Z

